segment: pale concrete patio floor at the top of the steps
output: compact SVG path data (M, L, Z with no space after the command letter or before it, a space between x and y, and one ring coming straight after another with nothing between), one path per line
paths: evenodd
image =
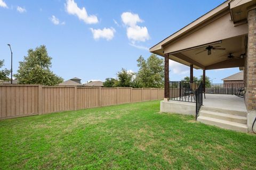
M203 105L206 107L247 112L244 98L236 95L205 94Z

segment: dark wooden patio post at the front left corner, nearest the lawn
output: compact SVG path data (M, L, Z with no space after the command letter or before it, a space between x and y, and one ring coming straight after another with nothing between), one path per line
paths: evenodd
M164 101L169 99L169 54L164 54Z

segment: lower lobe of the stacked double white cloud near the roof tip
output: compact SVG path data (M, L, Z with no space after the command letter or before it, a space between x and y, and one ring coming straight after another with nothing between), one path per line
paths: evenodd
M134 41L145 42L146 40L149 39L147 27L140 27L138 25L135 25L134 27L128 27L126 35L133 42Z

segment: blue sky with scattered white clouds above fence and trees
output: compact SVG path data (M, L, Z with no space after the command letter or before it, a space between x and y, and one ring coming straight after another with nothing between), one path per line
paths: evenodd
M137 58L148 48L224 2L169 0L0 0L0 60L13 72L29 48L45 45L52 71L73 77L105 80L124 67L138 71ZM170 79L189 75L189 67L170 63ZM238 68L206 71L215 83ZM199 77L202 70L196 70Z

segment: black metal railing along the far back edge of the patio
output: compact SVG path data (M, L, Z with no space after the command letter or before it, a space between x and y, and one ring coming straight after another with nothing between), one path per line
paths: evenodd
M244 83L206 84L205 93L244 96Z

